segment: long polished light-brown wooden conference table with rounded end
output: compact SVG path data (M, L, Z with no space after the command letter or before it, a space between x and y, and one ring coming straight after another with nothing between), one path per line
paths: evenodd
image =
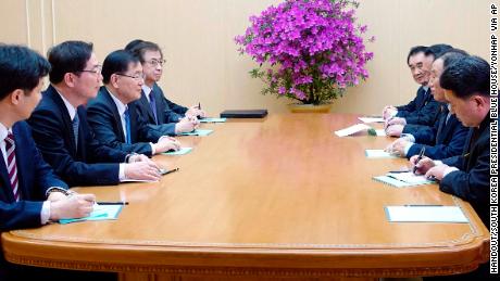
M120 272L121 280L338 280L454 274L489 258L471 205L437 184L374 181L404 158L366 158L393 139L339 138L355 114L272 114L179 137L159 182L76 188L126 201L116 220L4 232L15 264ZM379 126L379 125L378 125ZM389 222L385 206L459 206L468 223Z

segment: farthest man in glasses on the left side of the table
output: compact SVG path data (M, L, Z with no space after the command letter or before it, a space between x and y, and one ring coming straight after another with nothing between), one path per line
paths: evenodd
M192 131L199 125L197 117L204 117L205 113L199 106L188 108L165 98L157 84L165 63L160 47L153 42L134 40L127 44L126 50L142 64L145 85L140 99L135 103L147 113L149 126L170 136Z

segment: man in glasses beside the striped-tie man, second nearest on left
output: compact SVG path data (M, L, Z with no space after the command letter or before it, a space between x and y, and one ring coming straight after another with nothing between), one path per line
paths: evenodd
M28 123L38 149L55 173L70 186L159 180L158 166L146 155L111 149L93 137L84 108L96 98L102 79L92 44L62 42L48 56L51 85Z

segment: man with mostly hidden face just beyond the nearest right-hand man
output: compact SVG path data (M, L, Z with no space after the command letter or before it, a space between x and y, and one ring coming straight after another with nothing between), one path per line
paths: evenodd
M421 126L411 133L392 142L386 150L410 158L425 148L425 154L434 159L442 159L459 155L463 151L465 137L468 129L465 128L454 114L449 113L449 104L445 98L445 91L439 86L439 77L442 71L453 61L467 55L462 50L449 50L437 58L432 67L429 86L434 99L446 105L441 106L439 122L433 127ZM407 127L407 126L405 126Z

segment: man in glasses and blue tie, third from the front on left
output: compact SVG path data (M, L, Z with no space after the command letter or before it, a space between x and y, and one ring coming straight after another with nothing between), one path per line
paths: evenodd
M140 98L142 66L125 50L110 53L102 65L104 86L87 105L87 117L96 138L108 146L151 156L178 150L175 139L147 126L140 108L133 103Z

